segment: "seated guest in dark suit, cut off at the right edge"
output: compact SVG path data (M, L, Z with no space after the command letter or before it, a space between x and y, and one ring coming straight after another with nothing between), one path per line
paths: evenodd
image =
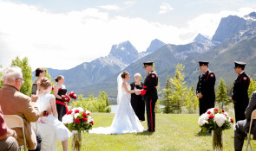
M256 91L253 91L251 100L246 108L246 119L245 120L240 120L235 124L235 129L234 129L234 149L236 151L242 150L243 144L244 144L244 139L246 137L246 132L248 132L248 129L250 127L250 122L251 122L251 115L253 110L256 109ZM253 123L254 125L255 123ZM252 127L252 133L253 136L256 135L255 129Z

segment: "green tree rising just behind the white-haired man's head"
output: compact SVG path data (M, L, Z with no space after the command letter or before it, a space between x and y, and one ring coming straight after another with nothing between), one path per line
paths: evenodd
M18 56L16 56L15 60L11 60L10 66L18 66L22 69L24 82L20 91L23 94L30 96L32 88L32 69L29 65L28 58L25 57L23 60L21 60Z

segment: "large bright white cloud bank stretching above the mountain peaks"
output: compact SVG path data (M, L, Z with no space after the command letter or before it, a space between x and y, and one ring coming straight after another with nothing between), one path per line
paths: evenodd
M141 18L109 16L99 9L54 14L26 4L0 0L0 65L6 67L17 55L39 66L69 69L108 55L113 44L131 41L145 51L155 38L185 44L198 33L213 35L221 16L246 15L252 9L205 14L178 28Z

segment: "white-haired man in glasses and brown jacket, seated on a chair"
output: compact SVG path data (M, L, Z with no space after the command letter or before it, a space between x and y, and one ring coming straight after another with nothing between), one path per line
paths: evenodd
M43 113L39 113L30 97L20 92L22 85L23 73L19 67L5 70L3 72L3 87L0 90L0 104L4 115L17 115L23 118L29 150L41 150L41 138L35 134L30 122L36 122L40 116L43 116ZM22 129L16 128L14 130L17 134L18 144L23 145Z

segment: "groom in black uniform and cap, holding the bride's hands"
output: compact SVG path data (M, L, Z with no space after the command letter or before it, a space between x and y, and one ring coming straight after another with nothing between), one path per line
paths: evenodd
M153 62L144 62L143 68L148 75L144 80L144 86L141 90L141 96L146 103L147 110L147 120L148 120L148 132L154 132L155 127L155 116L154 116L154 106L158 99L156 86L158 84L158 78L156 72L153 69Z

